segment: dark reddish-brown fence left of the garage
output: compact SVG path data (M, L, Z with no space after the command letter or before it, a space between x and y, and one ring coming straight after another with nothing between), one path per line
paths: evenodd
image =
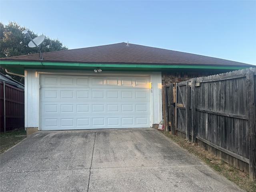
M24 90L0 82L0 131L24 127Z

